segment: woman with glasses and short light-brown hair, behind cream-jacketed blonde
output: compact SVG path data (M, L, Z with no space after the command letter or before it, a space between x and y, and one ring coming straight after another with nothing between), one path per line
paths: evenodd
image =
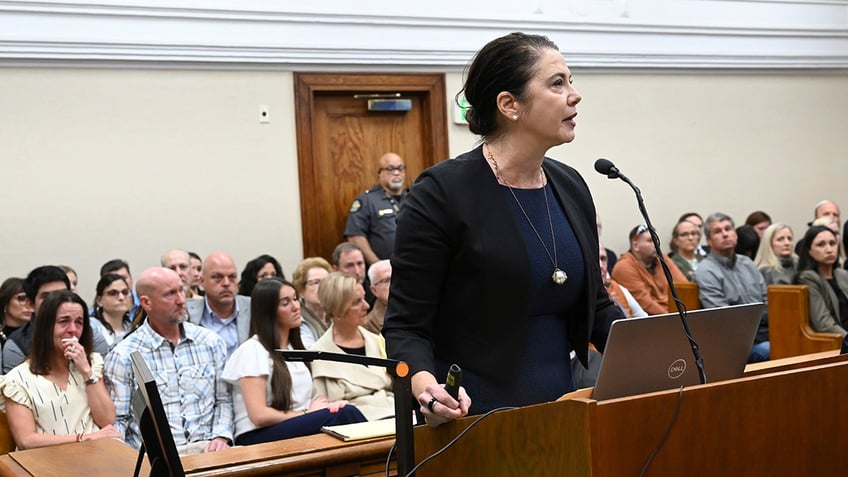
M292 284L300 297L300 313L303 319L300 325L300 337L307 348L327 331L326 313L318 300L318 286L321 280L333 271L330 262L321 257L304 258L292 273Z

